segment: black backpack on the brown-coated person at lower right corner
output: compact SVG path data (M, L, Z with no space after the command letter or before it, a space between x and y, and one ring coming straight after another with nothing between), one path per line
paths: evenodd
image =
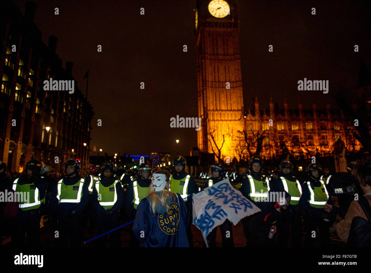
M352 220L347 247L371 247L371 207L364 196L360 196L358 204L368 219L356 216Z

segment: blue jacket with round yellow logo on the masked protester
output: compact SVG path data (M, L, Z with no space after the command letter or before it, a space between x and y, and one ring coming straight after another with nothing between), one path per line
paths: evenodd
M155 208L155 215L148 196L139 202L133 232L142 247L189 247L185 231L189 219L187 207L180 194L177 195L179 201L167 200L168 212L160 205Z

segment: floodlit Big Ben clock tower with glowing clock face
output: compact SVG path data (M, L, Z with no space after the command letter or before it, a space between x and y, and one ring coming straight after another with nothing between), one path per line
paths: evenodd
M198 149L217 153L221 148L221 157L231 162L237 156L233 139L244 130L238 33L237 0L197 0Z

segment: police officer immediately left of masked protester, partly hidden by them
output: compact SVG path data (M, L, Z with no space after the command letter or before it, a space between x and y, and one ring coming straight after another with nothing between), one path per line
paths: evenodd
M131 178L131 181L132 183L127 191L125 209L129 219L134 220L139 202L148 195L148 190L152 183L151 166L147 163L139 165L138 175L134 175ZM130 247L139 247L137 238L135 238L135 235L132 232L132 227L130 229Z

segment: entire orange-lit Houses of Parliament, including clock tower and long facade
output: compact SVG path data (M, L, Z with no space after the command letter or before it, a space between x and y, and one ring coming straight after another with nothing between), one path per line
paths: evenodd
M355 121L340 109L283 109L272 102L261 109L257 97L252 108L243 105L239 49L239 20L236 0L198 0L195 9L195 41L197 48L197 98L201 130L198 149L218 154L225 161L256 153L272 158L286 149L293 158L331 155L341 139L348 150L361 148L354 139ZM340 141L340 140L339 140ZM240 147L241 149L239 149ZM244 150L245 149L245 150Z

